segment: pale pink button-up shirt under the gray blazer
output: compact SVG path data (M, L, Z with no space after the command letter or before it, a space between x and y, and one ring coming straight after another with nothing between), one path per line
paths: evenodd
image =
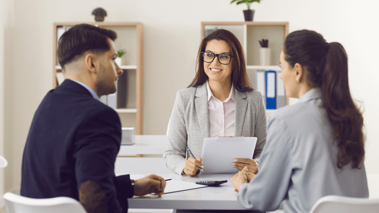
M209 133L211 138L234 136L235 90L232 83L229 97L223 102L213 96L207 81Z

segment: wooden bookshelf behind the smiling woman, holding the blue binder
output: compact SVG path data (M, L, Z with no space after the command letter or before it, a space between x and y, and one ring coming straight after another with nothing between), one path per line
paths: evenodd
M202 22L201 39L205 37L206 29L225 29L231 31L240 40L248 70L275 70L280 71L279 56L283 49L285 38L288 35L288 22ZM268 39L271 49L271 63L269 66L259 65L260 39ZM249 79L254 79L254 74L249 74ZM252 83L255 85L255 83ZM288 97L285 97L288 105Z

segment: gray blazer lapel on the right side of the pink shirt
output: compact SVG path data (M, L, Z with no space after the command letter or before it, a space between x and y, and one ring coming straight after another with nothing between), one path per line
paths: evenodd
M247 108L246 92L235 90L234 136L243 136L242 127Z

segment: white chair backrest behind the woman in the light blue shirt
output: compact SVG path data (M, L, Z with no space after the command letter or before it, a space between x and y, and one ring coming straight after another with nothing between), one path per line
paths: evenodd
M321 197L309 213L378 213L379 199L329 195Z

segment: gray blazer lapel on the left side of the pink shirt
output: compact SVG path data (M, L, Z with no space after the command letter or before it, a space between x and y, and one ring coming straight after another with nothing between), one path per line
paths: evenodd
M209 112L207 85L197 86L195 94L195 110L203 138L209 138Z

